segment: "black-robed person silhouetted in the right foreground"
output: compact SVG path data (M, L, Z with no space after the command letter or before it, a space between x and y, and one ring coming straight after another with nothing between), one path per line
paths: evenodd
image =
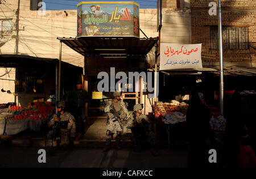
M188 167L207 167L207 144L212 139L210 130L210 110L200 100L198 93L193 93L187 110L189 139Z

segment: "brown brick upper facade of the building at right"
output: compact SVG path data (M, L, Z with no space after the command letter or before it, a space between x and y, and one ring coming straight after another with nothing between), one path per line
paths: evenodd
M217 15L209 15L210 2ZM191 0L192 44L202 43L204 65L218 66L218 1ZM221 1L224 67L256 65L256 1Z

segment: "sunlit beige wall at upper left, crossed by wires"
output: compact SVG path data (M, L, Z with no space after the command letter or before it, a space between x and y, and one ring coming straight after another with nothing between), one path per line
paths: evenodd
M18 7L16 0L2 3L1 18L13 18L13 33L10 41L1 47L2 54L14 54L16 44L16 15ZM76 37L77 15L76 10L46 11L40 15L39 11L30 10L30 0L20 0L19 13L19 49L18 54L27 54L35 57L59 58L59 40L57 37ZM68 46L63 45L62 59L72 65L84 66L84 57Z

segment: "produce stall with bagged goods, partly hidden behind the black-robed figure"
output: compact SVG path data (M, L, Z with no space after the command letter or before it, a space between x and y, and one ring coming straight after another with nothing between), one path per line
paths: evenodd
M210 109L210 127L214 139L221 142L226 127L226 119L221 115L216 106L208 105ZM187 143L186 114L188 103L171 100L171 103L156 102L153 106L154 118L160 125L164 126L168 135L168 147L172 143Z

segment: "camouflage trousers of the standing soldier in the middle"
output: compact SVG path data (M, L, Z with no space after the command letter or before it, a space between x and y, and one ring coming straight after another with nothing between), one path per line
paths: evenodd
M117 137L115 140L120 143L122 139L122 129L119 125L118 121L115 121L115 118L109 119L109 123L107 124L107 129L106 129L106 145L110 146L111 139L113 138L113 135L115 132L117 132Z

